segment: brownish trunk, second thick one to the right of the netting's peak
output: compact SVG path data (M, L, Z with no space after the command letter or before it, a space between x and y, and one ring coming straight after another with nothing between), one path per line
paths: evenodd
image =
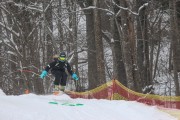
M127 2L125 0L120 1L120 5L122 7L128 7ZM121 27L122 27L122 54L123 54L123 61L125 64L126 76L127 76L127 86L128 88L134 90L134 74L133 74L133 48L132 42L130 38L130 29L129 29L129 15L128 11L122 11L121 13Z

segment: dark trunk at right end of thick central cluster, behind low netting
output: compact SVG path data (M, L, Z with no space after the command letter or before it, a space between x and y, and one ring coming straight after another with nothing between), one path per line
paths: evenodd
M137 9L144 2L136 1ZM141 9L139 17L137 17L137 65L140 75L140 87L144 88L152 84L152 76L150 77L150 61L149 61L149 42L148 42L148 26L147 26L147 10Z

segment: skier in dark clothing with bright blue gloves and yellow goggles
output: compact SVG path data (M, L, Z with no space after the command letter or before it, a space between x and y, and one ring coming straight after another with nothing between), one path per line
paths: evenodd
M54 58L54 61L46 66L45 70L42 71L40 78L44 79L44 77L47 76L48 71L50 69L51 69L51 73L55 76L54 94L58 94L59 90L64 92L66 86L66 80L67 80L67 73L65 69L67 69L68 73L72 76L74 80L79 79L76 73L72 71L71 66L66 60L65 52L61 52L58 59Z

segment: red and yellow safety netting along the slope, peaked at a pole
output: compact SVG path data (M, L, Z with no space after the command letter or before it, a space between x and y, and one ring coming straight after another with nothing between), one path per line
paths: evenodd
M106 84L86 92L69 91L68 93L72 98L129 100L148 105L180 109L180 96L160 96L138 93L128 89L117 80L109 81Z

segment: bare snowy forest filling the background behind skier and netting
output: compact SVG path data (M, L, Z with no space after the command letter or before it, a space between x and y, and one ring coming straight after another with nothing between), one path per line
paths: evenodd
M109 80L140 93L180 95L180 1L0 0L0 88L52 91L39 75L65 51L73 91Z

